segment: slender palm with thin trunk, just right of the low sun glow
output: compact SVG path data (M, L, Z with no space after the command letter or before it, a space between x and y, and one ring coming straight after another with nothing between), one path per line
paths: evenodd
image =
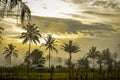
M51 58L51 51L53 52L56 51L58 53L58 50L55 48L56 46L56 39L54 39L50 34L48 34L48 37L47 39L45 39L46 43L45 43L45 46L46 46L46 51L48 50L49 51L49 68L50 68L50 58Z

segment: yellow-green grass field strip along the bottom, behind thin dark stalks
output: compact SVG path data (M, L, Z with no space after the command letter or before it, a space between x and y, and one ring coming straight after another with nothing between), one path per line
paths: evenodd
M113 76L115 75L115 76ZM118 73L71 73L71 80L119 80ZM0 80L50 80L50 73L0 73ZM53 73L52 80L69 80L69 73Z

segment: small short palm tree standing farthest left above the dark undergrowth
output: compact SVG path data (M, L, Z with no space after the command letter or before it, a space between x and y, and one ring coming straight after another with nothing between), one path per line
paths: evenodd
M5 55L5 59L7 61L9 61L9 64L11 65L12 61L12 56L17 58L18 57L18 50L15 50L16 46L14 46L13 44L8 44L8 47L4 48L4 53L3 55Z

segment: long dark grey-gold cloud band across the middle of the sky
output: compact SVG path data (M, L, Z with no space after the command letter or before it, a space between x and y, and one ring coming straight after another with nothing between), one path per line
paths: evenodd
M114 36L117 30L109 24L92 23L84 24L80 21L72 19L60 19L50 17L33 17L33 22L40 27L41 32L53 33L68 33L78 34L83 33L85 36L92 37L111 37Z

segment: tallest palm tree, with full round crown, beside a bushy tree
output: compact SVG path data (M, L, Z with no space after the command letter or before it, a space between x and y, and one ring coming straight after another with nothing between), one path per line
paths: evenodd
M23 44L29 42L28 53L30 55L31 42L34 42L35 44L37 44L37 42L40 43L39 38L41 37L41 34L39 33L39 29L35 24L28 23L23 28L26 30L26 32L23 32L20 38L24 38Z

